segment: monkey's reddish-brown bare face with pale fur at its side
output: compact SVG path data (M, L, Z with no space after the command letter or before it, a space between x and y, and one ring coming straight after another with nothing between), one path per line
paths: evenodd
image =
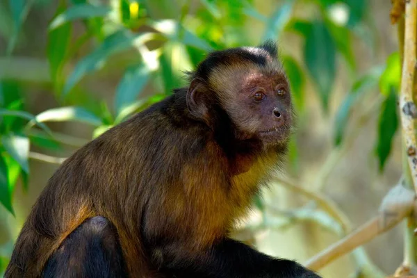
M255 67L240 72L223 105L243 140L260 140L265 147L286 145L293 111L288 81L280 70Z

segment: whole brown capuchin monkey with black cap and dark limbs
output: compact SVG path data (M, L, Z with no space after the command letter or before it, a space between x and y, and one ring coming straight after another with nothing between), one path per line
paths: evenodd
M213 51L187 76L58 167L6 278L320 277L229 236L292 132L277 45Z

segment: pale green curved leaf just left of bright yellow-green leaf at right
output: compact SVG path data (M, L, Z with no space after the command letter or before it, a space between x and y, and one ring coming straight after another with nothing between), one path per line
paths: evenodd
M379 76L382 74L382 68L376 67L370 71L369 74L361 77L356 81L350 92L347 93L345 99L343 99L341 105L336 112L336 120L334 122L334 144L336 146L340 145L345 136L345 129L347 126L347 121L349 120L350 111L354 104L362 97L363 93L367 92L371 88L377 85Z

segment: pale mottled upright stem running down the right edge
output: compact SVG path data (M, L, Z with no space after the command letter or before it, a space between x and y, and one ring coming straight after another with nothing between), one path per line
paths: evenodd
M414 71L416 69L416 24L417 0L405 4L404 62L402 64L400 109L402 136L407 148L408 165L411 170L414 190L417 192L417 149L414 136L414 118L417 108L413 101Z

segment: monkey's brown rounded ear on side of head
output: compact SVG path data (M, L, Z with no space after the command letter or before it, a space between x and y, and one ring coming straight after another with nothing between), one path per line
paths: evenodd
M187 92L187 107L191 115L208 121L206 85L202 79L195 78L191 81Z

